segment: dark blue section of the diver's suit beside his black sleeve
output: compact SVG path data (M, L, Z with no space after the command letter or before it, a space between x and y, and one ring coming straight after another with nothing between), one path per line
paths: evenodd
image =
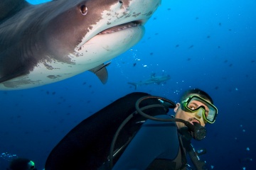
M170 118L157 115L156 118ZM177 130L176 123L146 120L129 143L113 170L186 169L188 144Z

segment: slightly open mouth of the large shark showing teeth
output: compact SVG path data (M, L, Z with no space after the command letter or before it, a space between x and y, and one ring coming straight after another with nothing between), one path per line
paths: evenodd
M121 24L119 26L114 26L114 27L111 27L111 28L107 28L106 30L102 30L102 32L98 33L98 35L108 34L108 33L115 33L115 32L120 31L120 30L125 30L127 28L133 28L133 27L137 27L137 26L141 26L141 25L142 25L141 21L132 21L132 22L129 22L129 23Z

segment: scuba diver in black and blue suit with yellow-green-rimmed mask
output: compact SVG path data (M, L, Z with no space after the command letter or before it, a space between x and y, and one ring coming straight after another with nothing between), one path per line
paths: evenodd
M174 108L175 118L169 115ZM83 120L50 152L46 170L193 169L206 170L191 139L206 137L206 123L218 110L201 89L181 96L181 103L132 93Z

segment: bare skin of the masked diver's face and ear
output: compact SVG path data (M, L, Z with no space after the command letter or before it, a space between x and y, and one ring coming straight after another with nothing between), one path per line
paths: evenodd
M193 102L197 106L205 106L200 101L193 101ZM174 108L174 112L176 113L175 118L180 118L180 119L186 120L191 124L193 124L193 122L196 122L196 123L201 124L203 127L206 125L205 120L203 120L203 116L197 114L197 112L191 113L191 112L183 111L180 103L176 104L176 108ZM184 125L184 123L180 123L180 122L176 122L176 125L177 125L178 129L186 127L186 125Z

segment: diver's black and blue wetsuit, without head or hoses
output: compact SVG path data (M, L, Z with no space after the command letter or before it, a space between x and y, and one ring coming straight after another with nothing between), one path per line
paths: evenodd
M50 152L46 170L58 169L110 169L108 159L110 145L127 116L136 111L135 103L144 93L132 93L119 98L89 118L82 120ZM156 99L147 99L140 107L160 104ZM160 118L170 118L168 111L161 107L144 110L144 113ZM177 132L176 123L146 120L142 126L137 123L141 115L134 115L122 129L114 150L121 148L137 132L124 154L114 157L114 169L181 169L186 164L183 140ZM137 131L139 130L139 131ZM180 147L181 146L181 147ZM120 152L122 153L122 152ZM107 166L105 168L105 166ZM174 167L174 168L173 168Z

